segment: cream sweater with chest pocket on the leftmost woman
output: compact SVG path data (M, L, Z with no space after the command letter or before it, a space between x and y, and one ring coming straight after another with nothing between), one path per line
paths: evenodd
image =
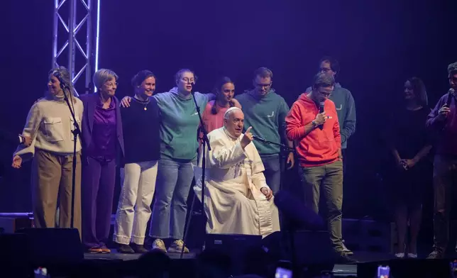
M75 118L81 126L82 101L73 98ZM35 154L35 148L53 152L58 155L73 153L73 119L63 96L45 96L33 104L28 111L26 126L22 135L32 138L29 147L19 145L14 155L23 160L29 160ZM78 137L76 151L81 150L81 141Z

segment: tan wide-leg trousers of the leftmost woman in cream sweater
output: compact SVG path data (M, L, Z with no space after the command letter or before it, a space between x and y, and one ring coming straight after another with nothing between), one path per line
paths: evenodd
M74 228L81 235L81 154L76 154ZM59 226L70 228L73 155L35 150L32 162L33 217L37 228L54 228L57 198Z

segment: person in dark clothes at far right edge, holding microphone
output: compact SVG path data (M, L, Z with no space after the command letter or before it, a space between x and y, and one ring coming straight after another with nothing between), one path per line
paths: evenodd
M451 89L457 90L457 62L448 65ZM448 104L448 101L450 103ZM434 159L434 250L428 259L444 257L449 241L451 198L457 186L457 106L455 91L441 96L429 114L426 126L436 137Z

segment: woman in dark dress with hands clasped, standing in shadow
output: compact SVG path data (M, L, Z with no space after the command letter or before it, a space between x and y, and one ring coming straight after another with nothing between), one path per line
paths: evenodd
M395 257L403 258L406 253L407 257L415 258L422 218L422 199L431 174L431 165L426 160L431 150L431 140L424 125L430 109L421 79L412 77L404 83L404 104L395 113L395 121L391 121L393 124L390 133L390 149L397 169L393 194L398 238ZM406 245L408 221L410 238Z

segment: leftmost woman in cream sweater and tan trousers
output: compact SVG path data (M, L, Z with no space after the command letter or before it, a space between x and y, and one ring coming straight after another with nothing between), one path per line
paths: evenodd
M60 81L67 84L65 92ZM59 200L59 225L70 227L72 198L72 161L77 160L75 179L74 227L81 231L81 142L76 144L76 157L73 157L74 129L70 109L65 95L75 111L76 121L82 118L82 101L73 96L70 74L65 67L50 71L48 92L35 102L28 112L23 136L32 138L30 146L19 145L13 155L13 167L19 168L24 160L32 160L33 217L37 228L53 228L57 198Z

